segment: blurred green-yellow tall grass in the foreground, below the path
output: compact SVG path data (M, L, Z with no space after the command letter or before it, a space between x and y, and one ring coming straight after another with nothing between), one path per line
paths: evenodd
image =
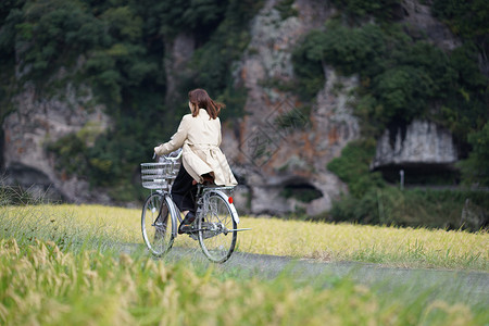
M384 298L348 279L328 288L220 278L143 255L63 252L52 241L0 239L2 325L485 325L485 306Z

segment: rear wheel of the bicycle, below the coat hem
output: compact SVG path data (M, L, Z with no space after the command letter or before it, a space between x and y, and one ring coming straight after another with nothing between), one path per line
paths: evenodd
M203 253L215 263L224 263L233 254L237 238L237 223L227 197L212 192L199 217L198 235Z

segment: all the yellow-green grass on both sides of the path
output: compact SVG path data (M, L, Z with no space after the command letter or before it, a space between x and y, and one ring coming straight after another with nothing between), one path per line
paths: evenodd
M489 325L487 300L416 285L246 276L121 253L139 210L0 208L1 325ZM241 218L238 250L410 267L488 269L488 234ZM188 237L175 246L196 247ZM488 299L489 300L489 299Z

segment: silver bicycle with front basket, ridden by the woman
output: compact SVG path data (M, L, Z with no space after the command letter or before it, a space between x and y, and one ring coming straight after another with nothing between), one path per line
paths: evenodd
M175 158L162 156L163 161L159 163L141 163L142 187L151 190L142 206L142 238L155 256L163 256L172 249L183 221L171 195L173 180L181 164L180 156L181 151ZM233 197L226 195L234 187L202 184L197 187L196 221L187 235L199 241L210 261L224 263L235 250L237 233L249 228L237 228L238 212Z

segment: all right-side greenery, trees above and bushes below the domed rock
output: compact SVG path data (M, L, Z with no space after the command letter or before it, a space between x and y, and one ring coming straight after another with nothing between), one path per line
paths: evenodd
M347 146L341 156L327 166L350 190L349 197L334 203L329 218L460 227L460 210L441 212L440 208L448 209L454 203L462 208L468 198L480 206L484 224L487 193L401 192L386 188L368 165L375 152L372 140L386 128L428 118L449 128L462 158L468 156L461 164L463 179L489 185L489 78L479 66L480 58L487 62L489 43L487 1L435 1L435 15L463 41L451 52L442 51L428 39L411 36L409 29L396 23L400 1L334 2L343 10L343 15L328 22L323 30L309 34L293 53L298 89L304 100L314 98L324 87L325 65L343 75L358 74L361 80L352 108L360 117L364 140ZM424 209L410 215L400 210L400 204ZM389 214L384 214L381 208Z

